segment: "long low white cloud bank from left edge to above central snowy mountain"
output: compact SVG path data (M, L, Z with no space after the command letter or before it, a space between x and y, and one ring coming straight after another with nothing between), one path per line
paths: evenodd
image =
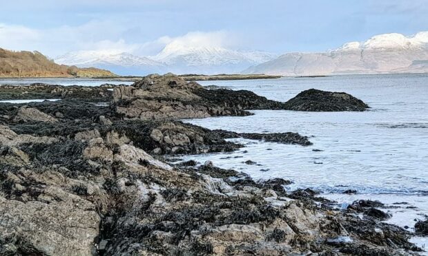
M0 47L9 50L37 50L50 57L66 52L90 51L99 54L128 52L137 56L155 55L164 50L177 51L188 47L234 47L237 38L226 31L188 32L183 36L161 36L144 41L135 34L135 40L122 36L126 27L112 21L90 21L79 26L61 26L36 30L21 25L0 24ZM165 48L165 49L164 49Z

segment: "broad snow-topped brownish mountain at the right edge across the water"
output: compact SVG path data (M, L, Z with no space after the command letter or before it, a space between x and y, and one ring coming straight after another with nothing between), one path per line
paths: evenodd
M398 72L428 72L428 32L414 36L380 34L327 52L287 53L242 73L311 76Z

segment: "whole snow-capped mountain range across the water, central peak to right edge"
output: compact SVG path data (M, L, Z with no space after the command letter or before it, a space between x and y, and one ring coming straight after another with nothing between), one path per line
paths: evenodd
M413 36L380 34L364 42L345 43L326 52L268 52L195 47L169 43L154 56L103 51L69 52L56 63L98 67L121 75L272 74L312 76L428 72L428 32Z

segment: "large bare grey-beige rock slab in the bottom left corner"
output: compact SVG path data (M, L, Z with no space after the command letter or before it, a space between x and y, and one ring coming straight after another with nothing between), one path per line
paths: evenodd
M93 242L99 235L95 206L64 191L53 191L51 195L63 202L19 202L0 196L0 248L15 247L17 254L93 255Z

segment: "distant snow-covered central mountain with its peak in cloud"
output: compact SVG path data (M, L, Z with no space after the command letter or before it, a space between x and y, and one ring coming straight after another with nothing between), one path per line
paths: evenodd
M122 75L237 73L252 65L275 58L266 52L228 50L223 47L186 47L169 43L155 56L99 51L69 52L56 63L77 67L99 67Z

